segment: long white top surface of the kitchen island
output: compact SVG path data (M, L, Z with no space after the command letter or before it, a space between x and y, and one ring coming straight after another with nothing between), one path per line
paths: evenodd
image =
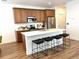
M65 29L56 29L56 28L43 29L43 30L37 30L37 31L22 32L22 34L28 37L28 36L35 36L35 35L41 35L41 34L59 32L59 31L65 31Z

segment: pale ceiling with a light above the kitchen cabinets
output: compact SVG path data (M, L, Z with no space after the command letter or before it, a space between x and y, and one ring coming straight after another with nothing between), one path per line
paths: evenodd
M11 0L9 0L11 1ZM37 6L37 7L54 7L57 5L66 4L72 0L13 0L12 3L27 5L27 6Z

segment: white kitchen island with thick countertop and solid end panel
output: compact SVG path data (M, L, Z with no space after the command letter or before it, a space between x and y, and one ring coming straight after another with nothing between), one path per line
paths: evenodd
M44 29L44 30L37 30L37 31L22 32L22 35L25 38L24 41L25 41L25 46L26 46L26 55L32 54L32 40L55 36L58 34L62 34L64 31L65 29L54 28L54 29ZM63 40L61 38L60 44L62 43L63 43Z

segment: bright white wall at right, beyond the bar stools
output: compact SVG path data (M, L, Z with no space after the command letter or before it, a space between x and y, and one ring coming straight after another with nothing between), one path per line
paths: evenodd
M79 40L79 0L74 0L67 3L67 32L70 33L71 38Z

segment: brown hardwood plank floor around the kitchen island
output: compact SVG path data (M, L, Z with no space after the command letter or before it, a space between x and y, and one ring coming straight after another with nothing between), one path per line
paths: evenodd
M0 59L35 59L27 56L22 43L10 43L0 46ZM71 41L71 47L40 59L79 59L79 41Z

